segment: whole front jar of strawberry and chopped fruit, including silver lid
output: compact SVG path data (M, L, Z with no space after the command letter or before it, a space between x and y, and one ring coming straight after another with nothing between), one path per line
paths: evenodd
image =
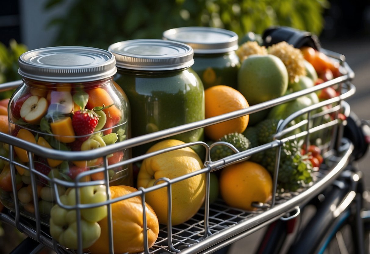
M129 138L129 103L113 81L115 57L90 47L49 47L28 51L19 57L23 83L9 101L10 133L40 146L65 151L90 150ZM127 160L130 151L117 151L108 165ZM26 150L14 147L14 160L30 168ZM103 158L63 161L33 156L34 169L50 178L79 181L81 172L101 168ZM18 198L22 214L34 218L30 170L16 166ZM109 170L110 184L133 184L132 166ZM87 174L83 181L103 180L105 174ZM75 180L77 179L77 180ZM19 181L18 181L19 180ZM48 224L55 191L42 175L36 175L41 221ZM67 185L58 186L62 195ZM28 192L27 192L28 190ZM14 209L11 191L1 192L1 201Z

